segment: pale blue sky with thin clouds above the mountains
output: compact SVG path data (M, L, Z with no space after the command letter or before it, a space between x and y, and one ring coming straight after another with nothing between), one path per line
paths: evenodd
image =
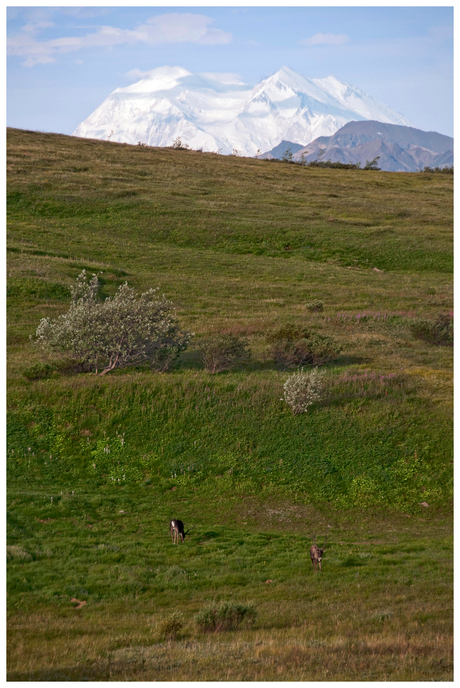
M251 85L286 65L453 135L452 7L9 6L7 37L11 127L72 134L115 88L163 65Z

